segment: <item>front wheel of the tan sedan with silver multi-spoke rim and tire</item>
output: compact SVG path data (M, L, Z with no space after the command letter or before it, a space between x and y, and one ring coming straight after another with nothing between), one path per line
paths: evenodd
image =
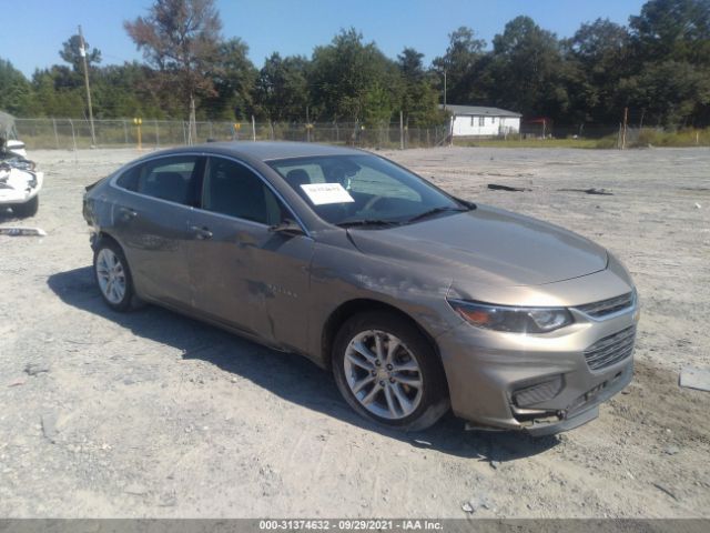
M367 420L419 431L448 411L446 378L433 346L394 313L375 311L348 319L335 336L332 358L341 394Z

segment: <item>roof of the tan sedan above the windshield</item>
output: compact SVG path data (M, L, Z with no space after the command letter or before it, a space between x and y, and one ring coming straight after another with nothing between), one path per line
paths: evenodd
M316 144L312 142L253 142L253 141L226 141L207 142L193 147L183 147L172 150L173 153L194 152L219 153L234 155L256 161L273 161L277 159L308 158L317 155L362 155L361 150L351 148Z

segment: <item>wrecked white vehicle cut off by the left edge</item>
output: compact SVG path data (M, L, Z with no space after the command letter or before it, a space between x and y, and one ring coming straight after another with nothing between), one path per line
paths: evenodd
M43 179L32 161L19 157L0 161L0 210L10 208L20 218L37 214Z

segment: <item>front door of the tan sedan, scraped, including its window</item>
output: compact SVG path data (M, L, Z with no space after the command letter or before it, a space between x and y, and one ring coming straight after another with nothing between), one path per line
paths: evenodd
M214 321L303 349L313 240L270 230L293 218L253 170L210 157L202 209L191 219L194 306Z

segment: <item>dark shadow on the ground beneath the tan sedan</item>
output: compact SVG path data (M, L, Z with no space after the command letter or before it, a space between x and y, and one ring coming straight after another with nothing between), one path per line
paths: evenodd
M382 429L355 414L339 395L331 374L305 358L271 350L154 305L130 313L114 312L101 299L91 266L52 274L48 285L64 303L111 320L138 336L174 346L182 351L183 359L210 362L288 402L416 447L491 461L495 465L542 453L559 442L556 436L532 439L521 432L465 431L464 422L450 413L426 431L403 433Z

